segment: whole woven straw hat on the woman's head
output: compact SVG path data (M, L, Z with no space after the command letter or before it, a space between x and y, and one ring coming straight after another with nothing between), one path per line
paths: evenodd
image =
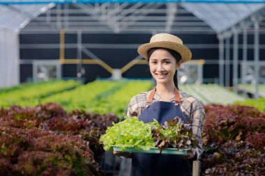
M190 49L183 45L182 40L169 33L158 33L153 35L150 42L139 46L137 51L140 56L147 59L147 52L154 47L162 47L177 51L181 55L182 63L189 61L192 56Z

